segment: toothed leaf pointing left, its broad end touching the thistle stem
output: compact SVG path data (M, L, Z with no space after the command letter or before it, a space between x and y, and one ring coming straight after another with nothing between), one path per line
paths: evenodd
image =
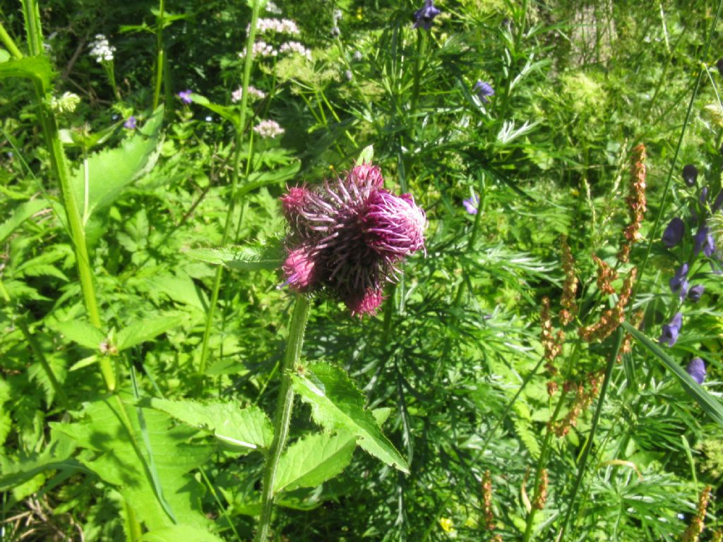
M200 403L191 400L153 399L150 405L187 425L204 429L217 439L244 448L268 448L273 429L258 407L241 408L234 402Z

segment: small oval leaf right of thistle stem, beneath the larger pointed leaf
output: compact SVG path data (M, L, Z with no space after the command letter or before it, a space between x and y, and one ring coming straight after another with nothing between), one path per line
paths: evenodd
M294 442L279 460L274 493L319 486L351 463L355 448L356 437L348 433L314 434Z

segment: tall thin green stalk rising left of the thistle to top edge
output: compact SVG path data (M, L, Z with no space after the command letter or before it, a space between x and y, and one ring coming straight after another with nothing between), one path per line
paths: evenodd
M251 67L253 64L253 45L256 38L256 22L259 18L261 10L260 1L255 0L252 8L251 23L249 26L249 35L246 40L246 58L244 59L244 79L241 83L241 113L239 113L239 126L236 127L236 145L234 148L234 170L231 173L231 194L228 198L228 209L226 210L226 223L223 225L223 237L221 238L221 246L226 246L228 236L231 233L231 222L234 217L236 208L236 189L239 184L239 169L241 167L241 144L244 142L244 130L246 128L246 109L249 102L249 80L251 79ZM213 288L211 290L211 300L208 305L206 314L206 326L203 332L203 342L201 345L201 359L198 366L198 374L202 382L203 374L206 372L206 364L208 362L208 341L211 336L211 328L213 327L213 315L215 314L216 304L218 304L218 291L221 288L221 279L223 278L223 266L219 265L213 278Z

